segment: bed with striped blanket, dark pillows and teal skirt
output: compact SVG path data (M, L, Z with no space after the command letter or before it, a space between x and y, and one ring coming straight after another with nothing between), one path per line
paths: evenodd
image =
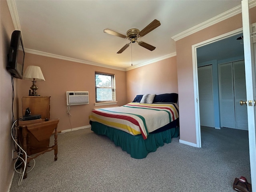
M178 94L137 95L124 106L95 109L89 116L91 130L106 135L142 159L179 136Z

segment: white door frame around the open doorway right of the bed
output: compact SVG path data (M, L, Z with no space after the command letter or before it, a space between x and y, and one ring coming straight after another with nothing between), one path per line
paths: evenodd
M192 63L193 63L193 82L194 82L194 106L195 106L195 121L196 121L196 147L201 148L201 129L200 129L200 111L199 111L199 93L198 93L198 72L197 72L197 58L196 49L207 44L240 34L243 32L242 28L233 30L231 32L216 36L214 38L205 40L203 42L192 45Z

